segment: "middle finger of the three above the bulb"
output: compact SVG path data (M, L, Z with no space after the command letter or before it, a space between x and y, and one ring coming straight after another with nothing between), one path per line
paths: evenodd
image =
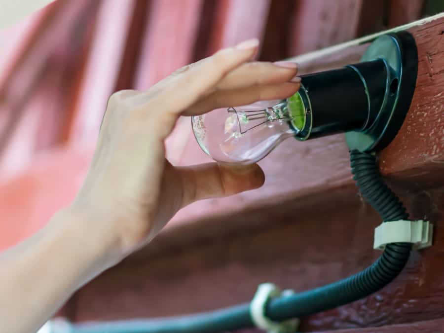
M228 73L217 84L216 89L239 89L254 85L277 84L295 78L297 64L290 62L250 62Z

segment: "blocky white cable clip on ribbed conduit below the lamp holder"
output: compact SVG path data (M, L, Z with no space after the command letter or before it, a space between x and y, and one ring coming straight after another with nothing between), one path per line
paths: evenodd
M382 222L374 229L373 249L384 250L390 243L412 243L413 250L432 246L433 224L429 221Z

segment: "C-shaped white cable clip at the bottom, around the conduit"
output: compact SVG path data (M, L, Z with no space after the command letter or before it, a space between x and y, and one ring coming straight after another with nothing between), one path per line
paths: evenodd
M268 301L275 297L290 296L292 290L281 290L272 283L262 283L250 303L250 316L257 328L268 333L293 333L299 326L299 319L291 319L282 323L274 322L265 315Z

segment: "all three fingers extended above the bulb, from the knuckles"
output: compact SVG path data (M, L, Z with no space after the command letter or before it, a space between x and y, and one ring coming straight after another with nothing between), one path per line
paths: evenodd
M183 113L203 113L294 94L299 88L296 64L247 63L258 45L258 39L250 39L185 66L147 91L130 95L127 105L137 110L141 121L148 121L150 131L163 140Z

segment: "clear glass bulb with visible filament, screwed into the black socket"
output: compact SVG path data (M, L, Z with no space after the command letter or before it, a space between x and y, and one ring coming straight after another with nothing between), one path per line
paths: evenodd
M305 108L296 93L284 101L216 109L191 118L202 150L223 164L255 163L305 125Z

